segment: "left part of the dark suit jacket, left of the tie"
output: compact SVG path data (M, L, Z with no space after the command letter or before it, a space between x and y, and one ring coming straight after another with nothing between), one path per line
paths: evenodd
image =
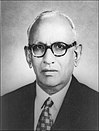
M24 129L32 117L35 82L2 96L2 128Z

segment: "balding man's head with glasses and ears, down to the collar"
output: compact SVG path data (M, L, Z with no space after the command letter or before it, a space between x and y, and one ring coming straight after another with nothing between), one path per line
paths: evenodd
M70 80L81 54L71 19L56 11L40 14L28 29L26 59L39 86L48 94L60 91Z

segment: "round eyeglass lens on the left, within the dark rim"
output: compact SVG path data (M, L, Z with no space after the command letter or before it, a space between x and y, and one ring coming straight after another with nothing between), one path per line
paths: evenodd
M32 49L33 49L33 54L38 57L42 56L45 52L45 47L42 44L33 45Z

